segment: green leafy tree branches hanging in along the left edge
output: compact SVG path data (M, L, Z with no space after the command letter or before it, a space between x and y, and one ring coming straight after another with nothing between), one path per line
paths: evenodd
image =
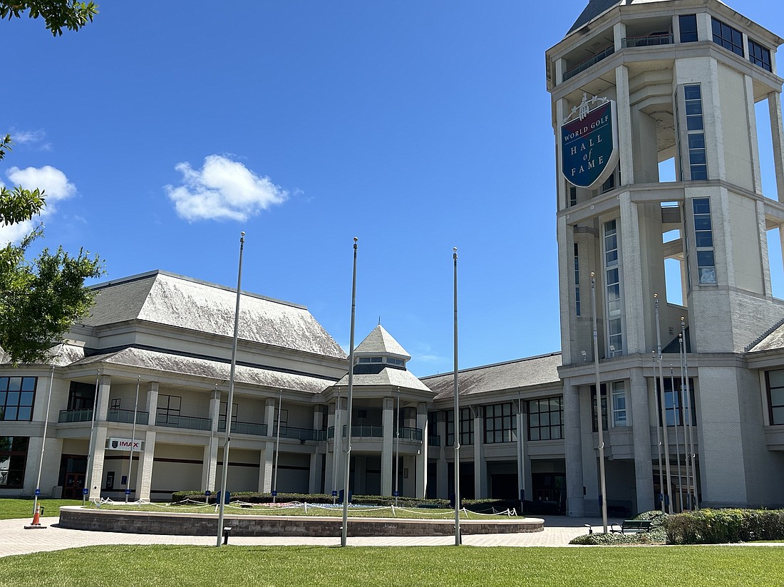
M0 19L20 18L25 11L31 18L41 16L54 36L63 34L63 28L78 31L98 13L93 2L0 0ZM0 140L0 160L10 149L11 137L6 135ZM0 223L9 226L33 219L46 205L44 196L43 190L0 188ZM27 249L42 234L43 225L38 224L18 245L0 248L0 347L15 365L49 358L53 344L61 342L93 305L85 279L103 274L100 258L91 258L84 249L70 255L62 247L54 253L44 248L28 261Z

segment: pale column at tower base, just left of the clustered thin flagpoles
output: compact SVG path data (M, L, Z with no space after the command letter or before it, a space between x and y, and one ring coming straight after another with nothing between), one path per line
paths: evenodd
M631 414L626 421L631 422L634 442L634 486L637 494L637 512L654 509L653 499L653 457L651 452L651 418L648 408L648 382L641 369L633 369L626 392Z

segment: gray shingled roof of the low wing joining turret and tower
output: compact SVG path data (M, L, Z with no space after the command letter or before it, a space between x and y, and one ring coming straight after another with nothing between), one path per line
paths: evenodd
M458 371L458 388L461 396L490 391L514 390L551 384L561 386L558 367L561 366L561 353L550 353L539 357L529 357L517 361L486 365ZM430 375L422 381L437 393L435 399L453 397L454 375Z

